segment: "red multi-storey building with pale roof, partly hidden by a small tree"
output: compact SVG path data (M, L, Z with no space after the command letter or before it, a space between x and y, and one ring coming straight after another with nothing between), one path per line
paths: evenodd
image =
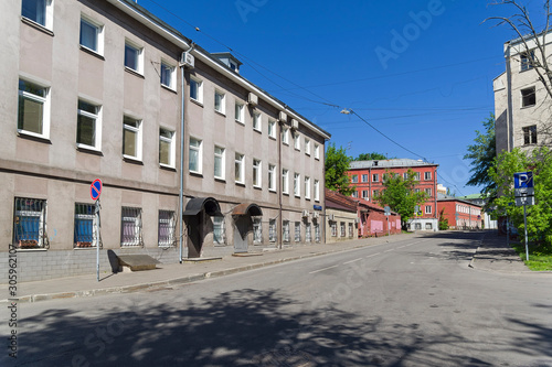
M417 175L416 191L427 193L428 201L421 205L422 214L408 222L410 229L437 230L437 166L438 164L411 159L392 159L383 161L353 161L347 172L350 182L357 188L353 197L372 202L383 188L383 175L388 172L405 175L408 170Z

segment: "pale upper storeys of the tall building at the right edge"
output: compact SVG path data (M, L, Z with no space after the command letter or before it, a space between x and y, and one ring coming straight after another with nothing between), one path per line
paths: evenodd
M537 40L521 39L505 43L506 72L492 83L495 90L495 117L497 153L514 148L532 149L550 144L551 140L551 96L539 80L537 68L542 54ZM539 36L550 57L550 33Z

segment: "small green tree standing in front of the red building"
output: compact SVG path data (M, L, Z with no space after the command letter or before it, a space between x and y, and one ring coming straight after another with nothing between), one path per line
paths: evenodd
M414 215L416 205L422 205L427 201L427 194L423 192L416 193L414 187L417 185L416 174L408 170L406 180L401 174L385 171L383 176L383 190L375 197L375 201L381 205L389 205L393 212L401 215L402 226L406 227L406 223Z

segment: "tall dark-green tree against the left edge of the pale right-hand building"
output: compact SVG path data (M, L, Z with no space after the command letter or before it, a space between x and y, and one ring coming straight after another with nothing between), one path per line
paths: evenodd
M474 144L468 145L468 153L464 155L465 160L471 160L471 177L467 185L479 186L482 185L481 194L488 197L496 196L497 185L495 181L488 175L489 169L495 163L497 156L497 139L495 136L495 115L490 114L484 122L485 131L476 130L476 139Z

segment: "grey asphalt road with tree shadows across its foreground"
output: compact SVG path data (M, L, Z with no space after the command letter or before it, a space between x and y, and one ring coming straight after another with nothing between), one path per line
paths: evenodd
M447 233L174 289L20 304L17 363L552 366L552 274L468 268L480 236ZM13 361L0 356L0 366Z

